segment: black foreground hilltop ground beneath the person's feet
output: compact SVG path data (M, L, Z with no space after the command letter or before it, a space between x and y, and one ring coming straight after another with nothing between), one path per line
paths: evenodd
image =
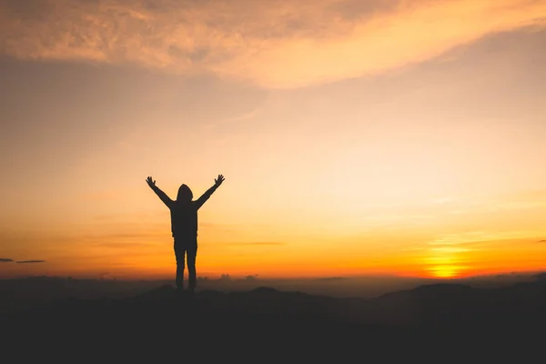
M273 288L187 297L165 285L126 298L5 308L0 324L4 355L57 362L524 362L541 355L546 279L503 288L435 284L370 299Z

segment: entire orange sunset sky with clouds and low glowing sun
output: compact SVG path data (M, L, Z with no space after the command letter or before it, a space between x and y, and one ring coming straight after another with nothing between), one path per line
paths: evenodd
M218 174L198 276L544 269L545 59L541 0L0 0L0 278L174 279L145 179Z

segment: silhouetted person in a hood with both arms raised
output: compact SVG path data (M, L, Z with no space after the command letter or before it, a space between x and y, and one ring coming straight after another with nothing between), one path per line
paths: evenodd
M178 188L177 200L173 201L156 186L156 181L152 177L147 177L146 181L170 210L171 231L175 240L175 257L177 258L177 289L182 291L184 287L184 263L187 257L188 288L193 293L197 285L197 210L224 182L224 176L218 175L214 180L214 186L208 188L207 192L195 201L192 200L191 189L186 185Z

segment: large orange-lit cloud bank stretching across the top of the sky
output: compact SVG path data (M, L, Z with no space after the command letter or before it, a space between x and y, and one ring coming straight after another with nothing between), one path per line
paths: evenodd
M545 18L546 2L530 0L0 0L0 51L298 87L426 61Z

